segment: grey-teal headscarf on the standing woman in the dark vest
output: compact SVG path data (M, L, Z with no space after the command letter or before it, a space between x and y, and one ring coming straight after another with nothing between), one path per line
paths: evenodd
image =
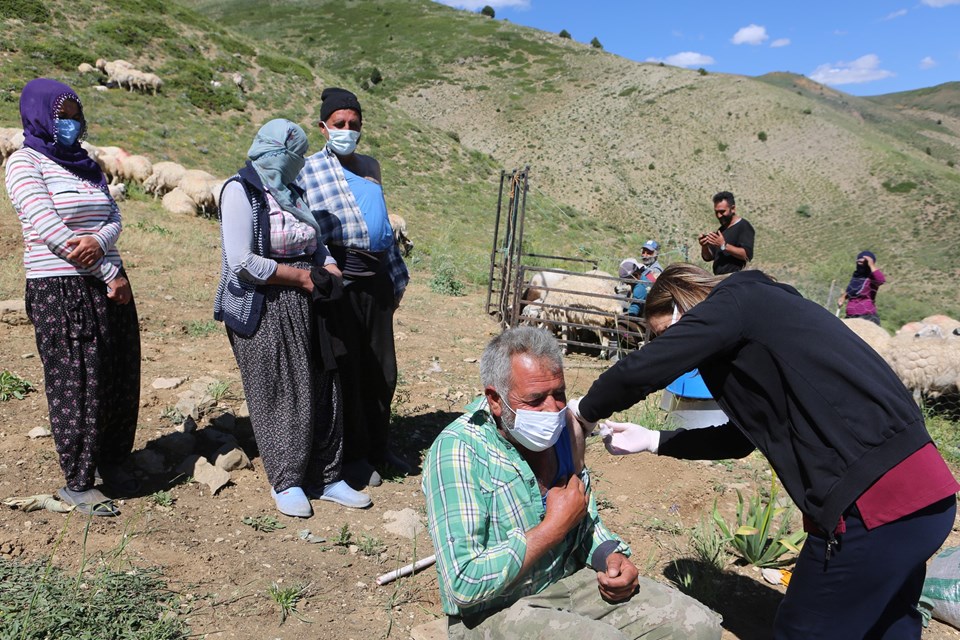
M297 175L306 162L307 134L299 125L277 118L260 127L247 157L263 185L270 190L284 211L292 213L317 232L320 225L303 198L293 189Z

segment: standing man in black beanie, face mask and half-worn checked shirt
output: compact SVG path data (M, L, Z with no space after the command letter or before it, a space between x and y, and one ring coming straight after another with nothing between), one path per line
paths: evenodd
M390 404L397 386L393 314L410 280L393 239L380 163L356 152L363 125L357 96L328 88L320 122L327 144L307 158L298 184L306 191L323 241L343 271L336 305L346 355L338 358L344 394L344 477L381 483L380 471L410 466L390 448Z

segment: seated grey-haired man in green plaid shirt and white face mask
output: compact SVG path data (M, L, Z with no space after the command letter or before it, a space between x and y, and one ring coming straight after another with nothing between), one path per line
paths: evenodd
M508 329L483 352L485 401L423 465L450 638L720 638L717 614L638 579L600 521L557 341ZM649 635L648 635L649 634Z

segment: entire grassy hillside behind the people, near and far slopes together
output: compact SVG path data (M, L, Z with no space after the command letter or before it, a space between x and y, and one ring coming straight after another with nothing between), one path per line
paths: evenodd
M790 74L634 63L428 0L31 0L0 2L0 18L0 123L15 122L23 82L52 75L81 90L94 143L220 175L270 117L319 144L322 87L356 91L361 145L384 165L415 268L454 265L482 282L500 169L529 164L532 250L609 270L653 236L670 259L696 261L696 233L715 226L709 197L729 189L757 227L756 266L814 299L869 247L890 277L890 324L960 314L960 121L946 113ZM90 91L97 80L75 68L97 57L167 84L157 97Z

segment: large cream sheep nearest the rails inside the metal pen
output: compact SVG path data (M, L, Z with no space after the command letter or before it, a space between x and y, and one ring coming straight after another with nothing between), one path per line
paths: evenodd
M585 330L597 337L600 357L606 358L606 336L616 330L617 318L623 315L622 301L613 291L614 280L604 271L566 276L556 283L542 305L544 324L555 326L564 342L570 339L571 329L580 329L570 324L585 325Z

